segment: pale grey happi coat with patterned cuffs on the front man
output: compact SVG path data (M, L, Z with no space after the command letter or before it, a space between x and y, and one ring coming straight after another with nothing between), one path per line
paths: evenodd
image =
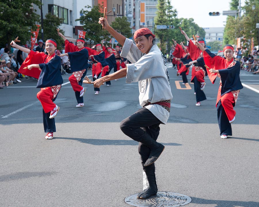
M166 124L169 112L158 104L152 104L171 100L173 97L165 58L157 45L153 45L148 54L143 54L132 40L126 39L121 57L132 62L132 64L127 64L126 83L138 81L140 106L143 107L151 102L145 108Z

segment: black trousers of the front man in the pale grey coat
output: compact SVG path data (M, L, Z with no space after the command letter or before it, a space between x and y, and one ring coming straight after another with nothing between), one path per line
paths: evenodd
M125 118L120 124L121 131L125 135L139 142L138 152L141 157L141 163L144 171L154 169L155 164L153 163L144 167L144 164L150 154L150 149L141 143L141 140L145 136L149 136L152 139L157 140L160 131L159 124L161 124L161 121L144 107L128 118Z

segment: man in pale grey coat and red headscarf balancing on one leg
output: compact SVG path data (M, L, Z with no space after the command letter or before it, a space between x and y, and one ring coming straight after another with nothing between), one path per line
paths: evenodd
M125 76L126 83L139 83L139 103L142 108L124 119L120 128L125 135L139 142L138 152L149 186L141 191L137 198L149 198L157 193L154 162L165 148L156 141L160 130L159 124L166 124L173 97L165 58L157 45L153 45L155 35L148 28L136 30L135 45L132 40L116 32L105 18L99 18L99 23L123 46L121 57L127 58L132 64L97 79L94 81L94 87Z

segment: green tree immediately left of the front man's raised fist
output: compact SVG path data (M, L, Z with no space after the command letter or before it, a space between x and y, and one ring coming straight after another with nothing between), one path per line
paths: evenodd
M90 45L92 45L92 43L100 43L103 39L109 39L108 32L102 30L102 25L98 23L99 18L103 16L100 12L100 5L94 6L93 8L87 5L85 8L85 10L81 10L83 16L76 19L76 21L83 22L83 29L86 31L85 39L90 42Z

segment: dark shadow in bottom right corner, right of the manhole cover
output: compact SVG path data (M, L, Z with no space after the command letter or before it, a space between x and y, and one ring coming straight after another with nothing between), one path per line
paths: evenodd
M203 198L195 198L191 197L193 204L216 204L218 207L235 207L235 206L242 206L242 207L258 207L259 202L253 201L227 201L227 200L207 200ZM215 207L216 207L215 206Z

